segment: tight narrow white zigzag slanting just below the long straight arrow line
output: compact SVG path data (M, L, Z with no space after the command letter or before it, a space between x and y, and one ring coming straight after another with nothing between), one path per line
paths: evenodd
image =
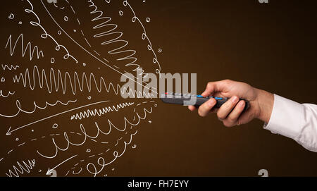
M133 104L135 104L134 102L125 102L125 103L121 103L121 104L117 104L116 106L113 105L108 106L108 107L103 107L102 109L87 109L87 111L83 111L80 113L76 113L75 115L70 117L70 120L73 119L79 119L81 120L82 118L89 118L89 116L102 116L106 113L112 112L112 111L118 111L119 109L123 109L127 106L132 106Z

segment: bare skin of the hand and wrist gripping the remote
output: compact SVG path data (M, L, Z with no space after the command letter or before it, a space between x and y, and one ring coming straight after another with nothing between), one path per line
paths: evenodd
M251 87L251 85L244 82L232 80L209 82L201 96L230 97L219 109L213 109L213 106L216 105L216 99L214 98L206 101L198 109L198 114L202 117L207 116L209 113L217 113L218 119L226 127L246 124L254 118L268 123L274 104L274 95L270 92ZM247 111L242 112L245 101L240 101L239 98L249 100L250 107ZM197 108L188 106L188 109L194 111Z

